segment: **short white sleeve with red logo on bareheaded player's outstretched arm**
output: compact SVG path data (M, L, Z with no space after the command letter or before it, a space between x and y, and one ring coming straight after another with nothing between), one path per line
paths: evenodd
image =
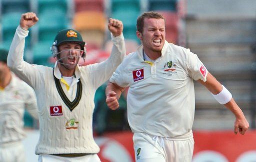
M199 60L197 55L190 52L189 49L186 52L186 70L189 77L191 77L192 79L201 79L204 82L206 81L206 76L208 74L207 69Z

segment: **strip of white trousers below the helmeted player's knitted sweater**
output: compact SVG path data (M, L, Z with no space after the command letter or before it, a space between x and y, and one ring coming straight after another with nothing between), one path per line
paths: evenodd
M82 157L59 157L54 155L40 154L38 162L101 162L97 154L86 155Z

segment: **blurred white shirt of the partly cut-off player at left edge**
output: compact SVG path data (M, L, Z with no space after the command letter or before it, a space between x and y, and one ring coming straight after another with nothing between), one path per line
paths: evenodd
M20 141L25 137L25 109L33 118L38 119L33 89L11 73L10 83L0 90L0 145Z

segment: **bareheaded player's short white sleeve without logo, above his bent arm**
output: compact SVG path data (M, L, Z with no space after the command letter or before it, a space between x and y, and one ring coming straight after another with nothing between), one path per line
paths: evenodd
M127 74L125 73L125 69L121 63L109 79L111 83L117 84L119 87L125 88L129 86L129 83L127 82L127 79L125 79L125 76Z

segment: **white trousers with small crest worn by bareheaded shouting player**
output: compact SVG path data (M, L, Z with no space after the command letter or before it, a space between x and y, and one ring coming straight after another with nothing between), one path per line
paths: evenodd
M136 162L191 162L194 140L192 134L182 139L134 133Z

